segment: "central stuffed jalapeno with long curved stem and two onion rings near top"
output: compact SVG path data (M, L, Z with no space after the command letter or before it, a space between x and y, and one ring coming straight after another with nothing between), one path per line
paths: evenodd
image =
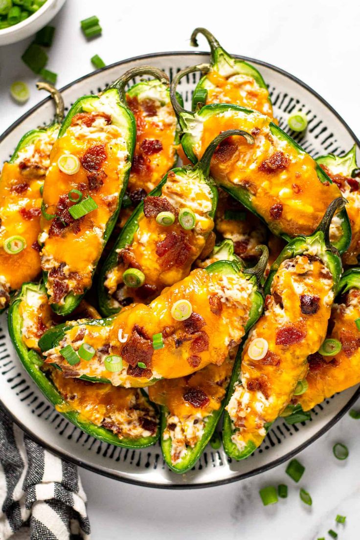
M148 303L189 274L214 228L218 191L209 178L210 159L235 133L252 139L239 131L221 133L198 164L172 169L139 204L101 269L99 305L105 316L132 302ZM141 279L133 283L132 274Z

